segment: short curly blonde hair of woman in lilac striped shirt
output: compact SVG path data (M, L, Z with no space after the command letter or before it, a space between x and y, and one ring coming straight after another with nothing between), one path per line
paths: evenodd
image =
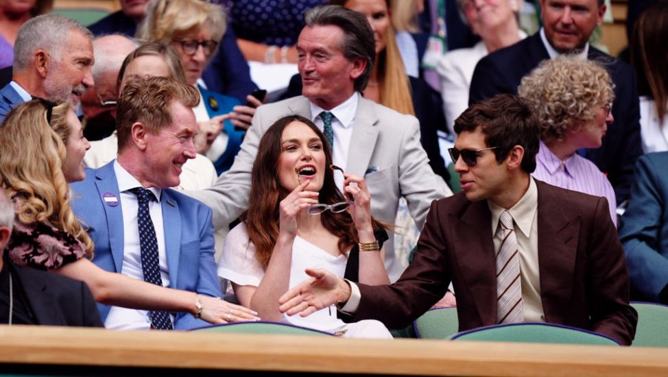
M605 67L577 56L544 60L518 88L536 109L540 138L550 144L578 132L596 117L597 106L612 103L615 84Z

